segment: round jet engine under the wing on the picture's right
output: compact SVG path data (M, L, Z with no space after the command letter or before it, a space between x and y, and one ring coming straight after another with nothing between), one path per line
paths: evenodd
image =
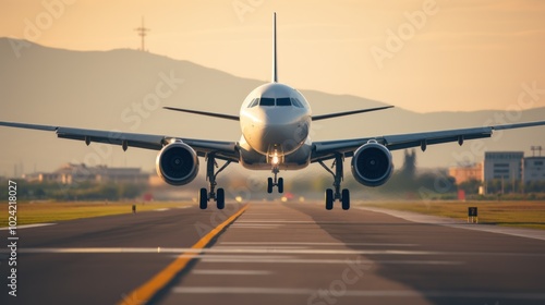
M352 174L365 186L379 186L390 179L393 172L391 152L384 145L371 139L354 152Z

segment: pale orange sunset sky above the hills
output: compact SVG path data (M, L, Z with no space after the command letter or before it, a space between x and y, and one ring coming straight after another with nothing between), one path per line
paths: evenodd
M150 52L263 81L270 80L276 11L280 82L419 112L504 110L523 83L545 88L541 0L0 3L0 36L73 50L136 49L144 15ZM545 98L533 105L543 106Z

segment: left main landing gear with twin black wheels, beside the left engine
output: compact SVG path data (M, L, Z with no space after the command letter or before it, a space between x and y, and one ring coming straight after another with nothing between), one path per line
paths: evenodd
M216 158L213 154L206 156L206 181L208 181L208 188L201 188L198 192L198 206L201 209L206 209L208 207L209 200L216 200L218 209L223 209L226 207L226 192L223 188L219 187L217 193L214 192L216 188L216 178L218 173L225 170L231 161L227 161L218 171L214 172L214 168L218 167Z

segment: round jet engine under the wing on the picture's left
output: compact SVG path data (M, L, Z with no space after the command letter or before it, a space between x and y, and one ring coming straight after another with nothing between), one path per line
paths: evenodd
M171 185L192 182L198 173L198 157L195 150L181 141L165 146L157 155L157 174Z

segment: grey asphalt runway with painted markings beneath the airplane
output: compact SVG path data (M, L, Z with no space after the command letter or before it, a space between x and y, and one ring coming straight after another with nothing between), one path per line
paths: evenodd
M150 303L545 304L545 241L360 208L190 207L19 235L17 297L8 295L2 252L0 304L144 304L135 292L172 270Z

